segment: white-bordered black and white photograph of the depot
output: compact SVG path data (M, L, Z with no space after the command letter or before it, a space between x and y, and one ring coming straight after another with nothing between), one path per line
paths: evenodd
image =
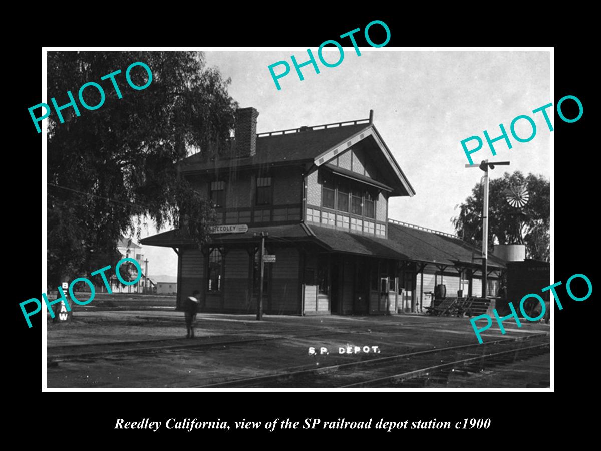
M553 390L553 130L580 100L552 48L377 26L46 49L44 390Z

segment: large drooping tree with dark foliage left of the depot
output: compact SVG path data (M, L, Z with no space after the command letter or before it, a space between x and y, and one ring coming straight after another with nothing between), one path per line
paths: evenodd
M141 61L152 72L151 84L133 90L125 72ZM121 70L115 81L101 77ZM148 80L133 67L132 82ZM82 107L79 87L100 84L105 102ZM200 199L177 163L186 148L220 153L234 124L237 103L227 93L230 79L206 67L199 52L49 52L47 97L58 105L72 91L81 115L72 107L53 110L47 140L47 279L51 286L111 265L119 258L122 234L140 236L153 220L186 230L200 244L214 223L214 210ZM97 105L100 93L90 87L85 103ZM49 102L50 103L50 102ZM89 278L89 277L88 277ZM96 279L100 277L94 277ZM95 281L96 282L96 281ZM100 281L102 284L102 281Z

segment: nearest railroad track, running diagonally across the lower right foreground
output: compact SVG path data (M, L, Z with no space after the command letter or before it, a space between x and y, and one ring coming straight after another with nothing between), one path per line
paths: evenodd
M532 334L514 339L475 345L450 346L370 358L319 369L278 372L254 378L235 379L191 388L367 388L402 385L407 381L440 377L456 368L478 372L547 352L548 334ZM525 346L520 346L524 345ZM392 375L391 375L392 372ZM418 384L419 385L419 384Z

